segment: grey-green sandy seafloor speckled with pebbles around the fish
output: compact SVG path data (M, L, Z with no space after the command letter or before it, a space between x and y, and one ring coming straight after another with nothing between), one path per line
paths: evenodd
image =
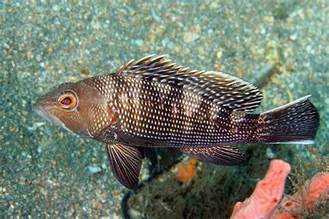
M123 216L121 200L128 189L110 173L101 143L43 121L31 107L62 82L110 73L151 53L167 54L184 67L221 68L255 82L255 72L269 62L267 44L276 42L278 72L262 86L258 112L312 94L321 115L313 147L328 157L323 149L329 139L328 13L328 1L0 1L0 218ZM248 191L264 175L270 158L288 160L273 148L288 147L291 154L308 159L304 146L256 148L269 152L268 147L274 152L251 173L258 177L245 185ZM203 167L223 170L202 165L200 176ZM232 170L226 178L239 177ZM212 179L203 177L204 182ZM173 190L166 184L158 189ZM230 188L230 199L239 193L235 189ZM168 199L161 202L153 209L159 216L210 215L202 199L191 211L175 209ZM148 215L144 211L151 208L144 207L134 206L130 216ZM228 216L232 209L212 216Z

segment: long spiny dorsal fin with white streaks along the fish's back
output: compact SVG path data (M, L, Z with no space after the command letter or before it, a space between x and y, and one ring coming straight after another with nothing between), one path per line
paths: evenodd
M214 103L234 111L253 111L260 105L262 93L247 82L221 71L197 71L177 66L165 55L148 55L131 60L119 68L119 76L146 78L196 92Z

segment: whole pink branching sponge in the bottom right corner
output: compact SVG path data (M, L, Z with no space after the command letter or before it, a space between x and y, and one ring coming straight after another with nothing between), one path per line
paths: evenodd
M311 211L319 200L329 198L329 173L317 173L300 191L278 204L289 171L290 166L285 161L271 161L267 174L258 182L251 197L235 204L231 218L298 218L298 214L303 215L301 210Z

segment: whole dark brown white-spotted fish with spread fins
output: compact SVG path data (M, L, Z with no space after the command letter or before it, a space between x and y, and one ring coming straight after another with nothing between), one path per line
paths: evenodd
M236 144L314 143L319 113L309 98L255 114L262 92L251 82L147 55L115 73L62 84L38 98L33 110L103 142L113 175L135 190L146 147L178 148L199 161L238 166L246 157Z

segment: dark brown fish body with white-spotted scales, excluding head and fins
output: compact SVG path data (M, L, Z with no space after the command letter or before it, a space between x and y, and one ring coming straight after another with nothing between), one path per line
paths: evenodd
M89 78L81 84L96 87L105 96L89 130L105 143L126 139L132 146L138 141L142 146L211 147L260 142L267 134L258 114L230 111L172 85L116 75Z

